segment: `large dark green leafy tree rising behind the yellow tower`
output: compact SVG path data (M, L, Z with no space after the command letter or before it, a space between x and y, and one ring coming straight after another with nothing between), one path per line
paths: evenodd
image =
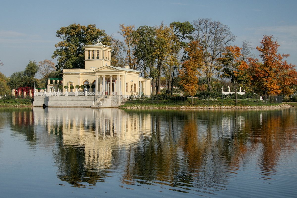
M62 39L55 46L56 49L52 58L58 58L56 65L57 71L67 68L84 68L84 48L83 45L93 45L99 38L102 44L110 45L110 37L96 28L96 25L81 26L80 24L71 24L67 27L61 27L57 31L57 37Z

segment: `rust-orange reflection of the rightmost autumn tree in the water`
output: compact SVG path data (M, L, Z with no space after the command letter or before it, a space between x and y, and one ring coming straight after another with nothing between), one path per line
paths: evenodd
M259 112L258 112L259 113ZM290 142L296 135L292 130L296 126L296 111L293 109L267 110L261 112L258 126L251 129L253 147L262 149L261 159L258 164L263 171L263 178L276 171L277 162L281 156L282 148L293 148ZM287 149L288 150L288 149Z

